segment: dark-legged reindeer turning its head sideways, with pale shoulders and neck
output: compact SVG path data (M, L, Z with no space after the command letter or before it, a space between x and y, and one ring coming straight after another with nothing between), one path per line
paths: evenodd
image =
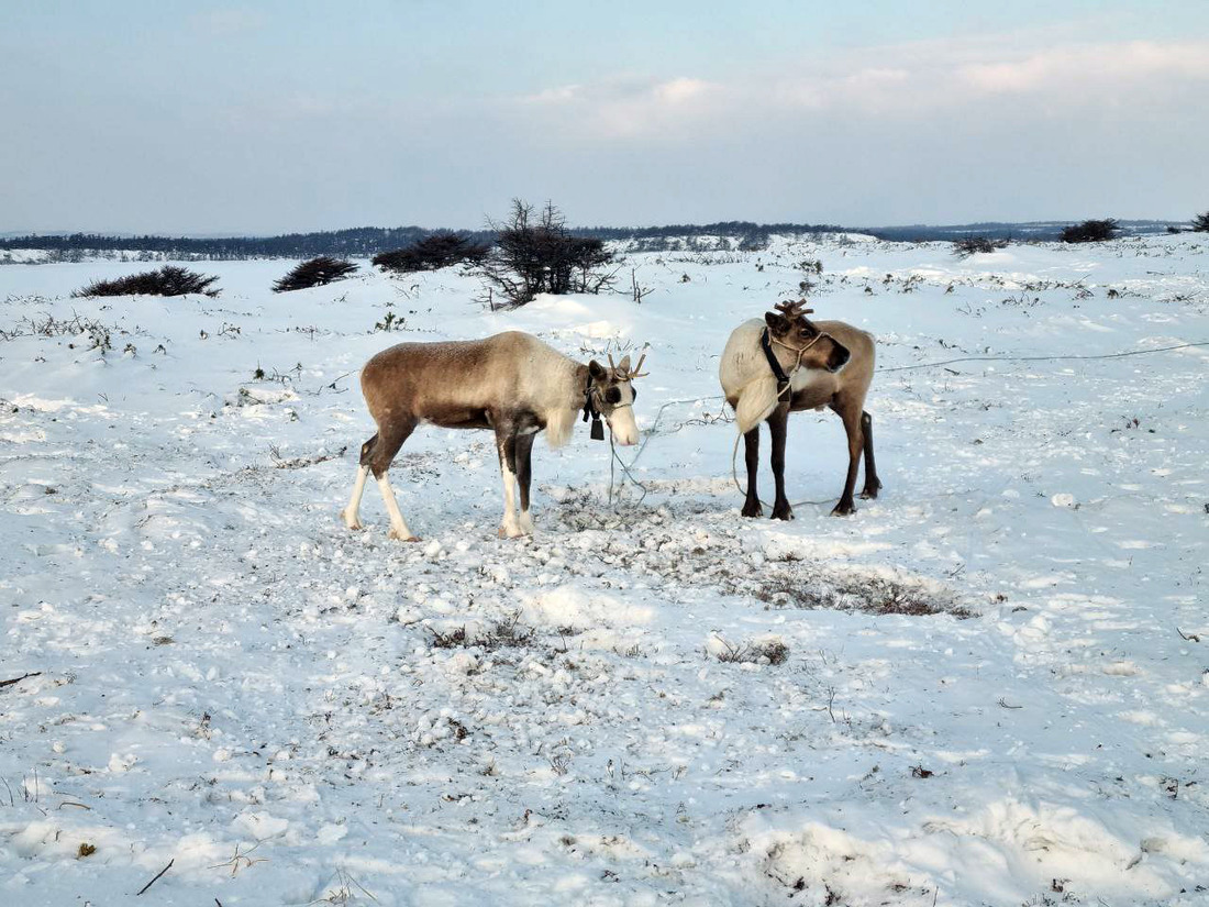
M829 406L848 433L848 478L832 515L856 512L852 490L864 451L862 498L875 498L881 481L873 461L873 417L864 398L873 380L874 340L843 322L811 322L805 300L777 304L764 320L744 322L730 335L722 353L718 377L744 438L747 463L747 499L744 516L763 516L756 492L759 467L759 423L773 434L773 475L776 499L773 518L792 520L785 496L785 435L789 412Z

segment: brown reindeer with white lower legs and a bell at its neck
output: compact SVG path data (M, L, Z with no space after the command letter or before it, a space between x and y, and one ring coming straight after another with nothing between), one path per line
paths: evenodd
M391 515L391 538L418 542L399 512L387 470L416 426L492 428L504 480L504 518L501 538L533 532L530 518L530 478L533 439L545 429L551 447L571 438L575 416L592 420L592 438L601 440L603 416L618 444L638 440L634 421L637 393L632 381L642 377L642 363L630 369L630 357L609 368L595 359L582 365L534 336L520 331L486 340L438 343L399 343L371 358L361 370L361 393L377 434L361 445L353 497L341 510L345 525L361 527L358 519L365 479L374 473ZM514 485L520 487L516 514Z

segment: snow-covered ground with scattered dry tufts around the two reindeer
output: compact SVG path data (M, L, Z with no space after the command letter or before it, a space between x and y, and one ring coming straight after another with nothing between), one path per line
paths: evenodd
M139 266L0 267L0 680L35 675L0 688L0 902L169 861L147 903L1209 900L1209 347L881 371L883 496L829 516L843 432L798 414L808 503L745 520L717 354L816 259L884 369L1209 340L1196 236L646 254L642 305L505 313L452 271L81 300ZM514 328L650 345L646 496L609 507L579 426L499 541L491 437L421 429L424 541L372 487L346 531L361 363Z

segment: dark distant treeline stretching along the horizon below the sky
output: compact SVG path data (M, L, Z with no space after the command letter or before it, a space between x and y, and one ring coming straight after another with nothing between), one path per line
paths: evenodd
M893 227L841 227L834 224L756 224L748 220L723 220L715 224L670 224L648 227L574 227L575 236L597 239L630 242L634 250L661 252L684 248L677 241L684 237L717 236L730 242L734 249L763 249L774 235L839 233L854 232L875 236L892 242L947 241L961 236L979 235L990 238L1057 239L1070 221L1036 221L1007 224L988 221L982 224L958 224L951 226L912 225ZM1122 232L1163 232L1174 221L1122 220ZM401 249L433 233L445 232L418 226L353 227L351 230L323 230L313 233L285 233L283 236L232 236L232 237L167 237L167 236L102 236L98 233L70 233L47 236L18 236L0 239L0 249L48 249L64 256L85 252L137 252L157 258L189 259L307 259L317 255L341 258L372 258L383 252ZM476 243L496 242L493 230L455 231Z

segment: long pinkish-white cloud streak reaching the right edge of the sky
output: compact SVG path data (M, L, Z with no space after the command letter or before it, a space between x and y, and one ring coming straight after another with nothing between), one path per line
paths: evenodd
M962 37L848 51L724 81L617 77L548 88L521 106L565 140L667 141L805 115L918 122L1011 103L1088 114L1130 99L1153 105L1209 80L1209 41L1030 45L1022 35Z

